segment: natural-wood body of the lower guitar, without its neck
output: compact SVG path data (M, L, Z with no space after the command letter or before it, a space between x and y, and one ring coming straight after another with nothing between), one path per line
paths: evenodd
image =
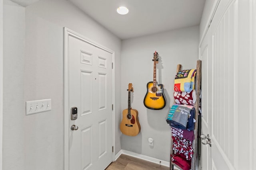
M138 121L138 111L130 109L131 118L128 116L128 109L123 110L123 119L120 124L120 130L124 135L136 136L140 133L140 123Z

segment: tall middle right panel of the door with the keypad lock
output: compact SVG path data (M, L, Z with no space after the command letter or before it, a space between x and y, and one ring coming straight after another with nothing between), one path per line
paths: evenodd
M99 110L106 109L106 93L107 93L107 82L106 82L106 74L105 73L98 73L99 78Z

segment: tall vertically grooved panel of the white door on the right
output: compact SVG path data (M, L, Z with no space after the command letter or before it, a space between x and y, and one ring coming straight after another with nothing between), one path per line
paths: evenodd
M223 157L234 164L234 4L230 4L220 19L213 36L213 94L212 138ZM231 14L231 15L230 15Z

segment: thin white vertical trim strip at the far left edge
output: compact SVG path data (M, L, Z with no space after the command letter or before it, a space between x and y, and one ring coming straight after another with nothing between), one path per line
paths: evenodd
M0 0L0 170L3 167L3 6L3 0Z

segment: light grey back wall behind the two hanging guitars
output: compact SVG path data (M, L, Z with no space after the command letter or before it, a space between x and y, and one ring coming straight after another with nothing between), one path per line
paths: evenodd
M128 107L126 89L128 83L132 83L134 92L131 95L131 107L138 110L141 125L141 132L137 136L121 136L122 149L164 161L170 160L170 127L166 118L174 102L174 76L177 64L182 64L184 69L196 68L198 44L199 26L122 41L122 110ZM150 110L143 104L146 84L153 81L154 51L158 52L160 58L156 65L156 78L158 84L164 84L167 100L162 110ZM154 147L148 145L148 137L154 139Z

